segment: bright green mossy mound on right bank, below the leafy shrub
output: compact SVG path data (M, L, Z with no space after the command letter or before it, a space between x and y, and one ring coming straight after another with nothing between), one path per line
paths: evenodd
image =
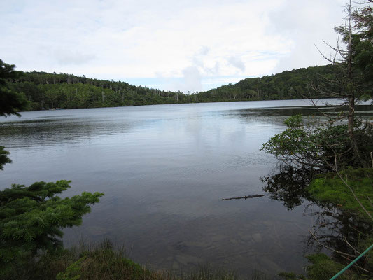
M358 200L365 209L373 214L373 169L344 169L339 172L344 181L351 186ZM306 188L309 194L321 202L330 202L349 211L358 211L365 216L356 199L351 195L351 190L343 183L335 173L321 174Z

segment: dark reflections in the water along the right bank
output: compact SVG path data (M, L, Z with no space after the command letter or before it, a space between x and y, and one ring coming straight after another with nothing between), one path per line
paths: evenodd
M279 166L274 174L260 178L265 184L263 190L269 193L269 197L282 201L288 209L309 202L304 208L304 214L313 216L315 222L313 228L309 229L314 236L310 233L307 237L307 251L329 247L332 258L348 265L365 250L362 248L362 240L372 232L372 224L353 212L337 209L332 204L312 202L304 190L311 179L312 173L307 169L295 169L286 165ZM372 274L373 267L368 265L366 258L360 259L358 265L360 268L354 269L360 270L360 274Z

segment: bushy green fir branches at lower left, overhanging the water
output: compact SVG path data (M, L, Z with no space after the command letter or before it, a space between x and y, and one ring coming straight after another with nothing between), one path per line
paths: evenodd
M0 191L0 272L11 274L39 251L62 248L62 228L80 225L103 193L82 193L71 198L56 194L70 188L70 181L13 185Z

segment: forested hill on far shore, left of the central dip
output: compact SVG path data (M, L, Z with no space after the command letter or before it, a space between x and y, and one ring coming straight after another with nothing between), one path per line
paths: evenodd
M84 75L20 71L19 78L8 82L10 88L27 97L30 110L189 102L181 92L164 92Z

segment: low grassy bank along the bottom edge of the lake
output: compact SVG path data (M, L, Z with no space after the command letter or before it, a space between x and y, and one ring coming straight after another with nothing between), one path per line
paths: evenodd
M190 273L154 270L141 266L125 256L125 250L114 248L105 240L97 245L80 244L71 249L45 253L26 269L16 270L17 280L236 280L239 276L226 269L203 266ZM265 274L253 272L245 279L270 279Z

